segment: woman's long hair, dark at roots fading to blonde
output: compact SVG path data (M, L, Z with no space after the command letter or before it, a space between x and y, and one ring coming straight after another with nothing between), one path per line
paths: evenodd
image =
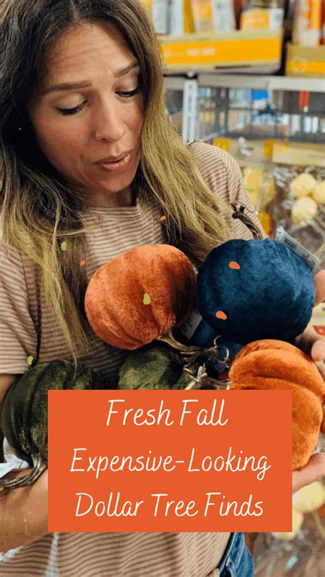
M27 109L44 55L68 27L106 21L141 65L145 119L134 186L165 215L167 242L202 261L230 238L227 204L204 182L191 147L167 114L163 56L152 23L136 0L2 0L0 6L0 206L3 238L34 260L47 304L73 358L86 352L86 254L80 199L38 148ZM22 130L19 130L22 129ZM69 238L69 251L62 242Z

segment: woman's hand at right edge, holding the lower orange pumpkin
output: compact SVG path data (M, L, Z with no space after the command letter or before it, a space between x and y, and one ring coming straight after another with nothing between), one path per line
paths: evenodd
M325 271L320 271L315 275L316 300L315 305L325 300ZM309 325L296 339L297 346L317 365L323 378L325 378L325 339L317 334ZM321 431L325 433L325 413L321 426ZM292 474L292 491L295 493L305 485L311 484L317 478L325 476L325 454L315 453L311 455L309 462L303 469L294 471Z

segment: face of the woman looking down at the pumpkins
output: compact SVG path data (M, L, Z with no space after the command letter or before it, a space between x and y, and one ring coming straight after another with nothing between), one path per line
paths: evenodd
M49 53L29 117L40 149L88 205L131 204L143 125L140 80L139 63L107 24L70 28Z

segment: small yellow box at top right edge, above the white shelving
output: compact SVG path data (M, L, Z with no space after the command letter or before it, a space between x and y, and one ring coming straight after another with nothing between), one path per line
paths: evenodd
M325 46L287 45L287 76L325 79Z

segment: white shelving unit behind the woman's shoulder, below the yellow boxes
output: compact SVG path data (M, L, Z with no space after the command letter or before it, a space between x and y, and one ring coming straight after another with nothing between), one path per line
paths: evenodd
M168 76L165 87L169 96L179 90L184 142L245 136L325 144L323 79L203 71L195 79Z

